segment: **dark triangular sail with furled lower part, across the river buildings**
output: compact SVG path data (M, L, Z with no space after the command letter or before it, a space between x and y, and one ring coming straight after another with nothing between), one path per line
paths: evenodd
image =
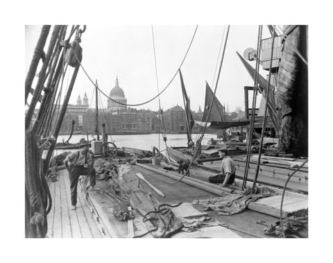
M211 104L212 110L210 111ZM216 96L214 96L214 92L210 88L210 85L208 85L206 82L205 111L203 112L203 121L195 121L196 124L205 126L205 121L207 121L207 127L214 130L223 130L231 127L246 126L250 124L250 121L225 121L223 112L223 105L216 98Z

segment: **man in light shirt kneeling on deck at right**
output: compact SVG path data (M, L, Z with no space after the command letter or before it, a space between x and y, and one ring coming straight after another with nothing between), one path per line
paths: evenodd
M234 161L228 156L228 149L225 147L219 149L219 156L222 158L222 171L214 176L210 176L210 183L222 183L222 186L232 185L236 173Z

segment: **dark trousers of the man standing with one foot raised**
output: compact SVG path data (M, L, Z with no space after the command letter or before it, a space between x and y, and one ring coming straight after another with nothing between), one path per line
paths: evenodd
M69 182L71 183L71 205L76 205L78 196L78 178L80 176L89 176L88 186L96 185L96 170L94 167L83 167L83 165L75 165L71 167Z

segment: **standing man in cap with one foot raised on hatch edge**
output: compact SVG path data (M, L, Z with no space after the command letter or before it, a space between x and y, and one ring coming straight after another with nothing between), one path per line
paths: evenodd
M99 190L96 185L96 170L93 166L92 155L88 153L90 144L83 140L80 143L79 151L67 155L64 160L68 171L69 182L71 183L71 210L76 210L76 199L78 195L78 178L80 176L89 176L87 189L89 191Z

